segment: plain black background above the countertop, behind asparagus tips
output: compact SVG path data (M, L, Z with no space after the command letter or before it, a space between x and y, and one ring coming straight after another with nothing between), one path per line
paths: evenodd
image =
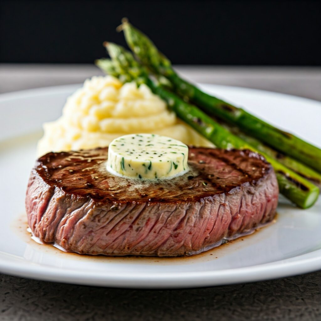
M174 64L321 65L320 1L0 1L0 62L92 63L126 16Z

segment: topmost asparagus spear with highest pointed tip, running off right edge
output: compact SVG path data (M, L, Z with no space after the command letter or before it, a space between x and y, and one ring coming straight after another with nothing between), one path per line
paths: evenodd
M172 68L169 59L160 53L147 36L134 28L127 20L123 20L122 29L127 44L139 60L155 74L167 77L174 91L184 100L190 100L207 113L239 126L247 134L255 136L274 149L300 160L321 173L321 149L266 123L242 108L201 91L180 78Z

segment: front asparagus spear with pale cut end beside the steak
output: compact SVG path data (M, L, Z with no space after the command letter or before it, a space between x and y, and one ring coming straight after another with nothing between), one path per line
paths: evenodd
M122 75L126 74L126 81L138 79L140 83L145 83L155 94L167 102L169 108L172 109L179 118L192 126L209 141L213 142L217 147L250 149L259 152L252 145L231 134L227 129L219 125L213 118L206 115L199 108L185 102L176 94L166 90L149 78L146 69L135 61L130 52L113 43L108 43L106 46L109 55L113 59L113 64L105 63L103 68L105 72L118 77L119 79L122 79ZM96 62L96 64L103 66L103 62L100 61ZM263 152L261 152L261 154L272 164L278 179L280 192L283 195L302 208L308 208L316 202L319 195L319 188L317 186L291 171L267 154Z

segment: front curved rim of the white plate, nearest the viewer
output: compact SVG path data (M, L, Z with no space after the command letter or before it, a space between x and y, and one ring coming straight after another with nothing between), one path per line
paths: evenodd
M28 262L9 262L6 265L0 253L0 270L2 273L32 279L63 282L93 286L118 288L191 288L219 286L244 282L257 282L317 271L321 268L321 249L270 263L251 265L234 269L193 272L135 273L113 275L97 271L77 271L71 268L57 267ZM312 257L310 257L312 256ZM307 268L308 267L308 268ZM269 273L266 273L269 272ZM263 275L262 275L263 274Z

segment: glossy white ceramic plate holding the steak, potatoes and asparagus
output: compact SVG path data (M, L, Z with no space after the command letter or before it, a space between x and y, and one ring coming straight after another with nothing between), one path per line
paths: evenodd
M276 223L188 258L81 256L39 245L26 232L24 196L41 124L61 114L79 85L0 95L0 271L48 281L179 288L249 282L321 269L321 199L300 210L280 198ZM321 103L236 87L215 95L321 146Z

